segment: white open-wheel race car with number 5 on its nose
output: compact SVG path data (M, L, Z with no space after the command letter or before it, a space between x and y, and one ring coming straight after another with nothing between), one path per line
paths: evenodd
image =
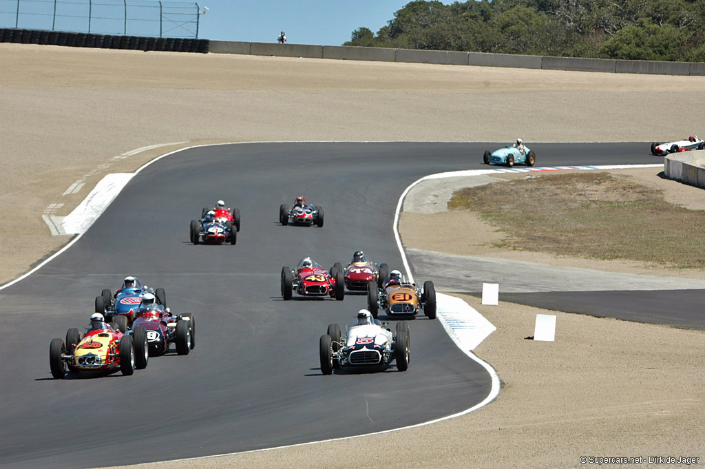
M367 310L357 313L357 321L348 324L345 335L338 324L331 324L321 336L319 352L321 372L331 374L340 367L388 367L396 360L397 370L409 367L409 326L397 322L396 333L379 322Z

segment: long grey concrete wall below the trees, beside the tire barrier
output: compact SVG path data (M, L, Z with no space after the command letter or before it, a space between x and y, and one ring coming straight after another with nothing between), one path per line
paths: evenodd
M705 76L705 63L656 62L576 57L544 57L484 52L383 49L381 47L317 46L272 42L211 41L214 54L309 57L314 59L366 60L403 63L439 63L483 67L535 68L604 73L649 73L657 75Z

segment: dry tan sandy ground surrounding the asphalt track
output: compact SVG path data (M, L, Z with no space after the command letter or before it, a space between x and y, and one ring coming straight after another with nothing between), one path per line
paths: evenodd
M42 221L49 204L63 204L56 214L68 214L104 174L133 171L178 147L116 158L146 145L668 140L697 132L701 110L692 103L705 100L702 77L22 44L0 44L0 65L0 281L66 243ZM702 200L655 173L638 177L681 203ZM82 190L62 195L79 180ZM18 211L34 236L17 236ZM470 253L477 247L458 238L458 227L471 230L468 238L489 233L467 214L432 217L441 217L443 236L455 241L436 236L434 243L431 233L403 229L407 245ZM557 341L539 343L523 338L540 310L465 299L498 328L475 351L503 381L489 406L375 437L146 467L568 468L584 467L583 455L699 456L705 463L703 332L559 312Z

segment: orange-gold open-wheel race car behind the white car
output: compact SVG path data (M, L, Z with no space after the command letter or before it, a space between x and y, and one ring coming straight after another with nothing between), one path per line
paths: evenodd
M424 282L424 288L421 288L407 281L398 270L393 270L381 288L376 284L369 284L367 309L376 318L379 308L388 316L417 315L423 310L429 319L436 319L434 283L427 280Z

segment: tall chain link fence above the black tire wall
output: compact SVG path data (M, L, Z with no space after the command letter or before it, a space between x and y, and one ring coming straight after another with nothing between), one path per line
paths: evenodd
M202 13L179 1L0 0L0 28L197 38Z

